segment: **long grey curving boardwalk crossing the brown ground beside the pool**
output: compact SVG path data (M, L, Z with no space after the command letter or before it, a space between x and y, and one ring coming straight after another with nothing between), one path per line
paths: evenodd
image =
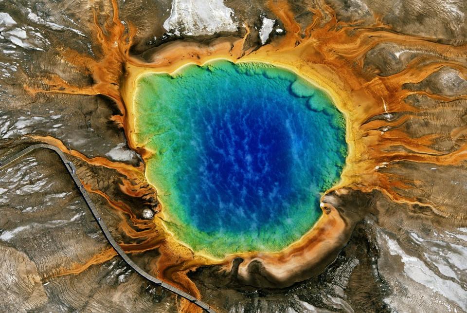
M104 221L102 220L101 218L101 215L99 214L99 212L96 210L96 207L94 206L94 203L92 203L91 201L91 198L89 197L89 194L88 192L85 190L83 184L81 183L81 181L79 180L78 176L76 175L76 167L74 166L74 164L72 163L72 161L68 160L67 157L65 156L65 154L57 147L55 146L52 146L52 145L46 145L46 144L36 144L36 145L32 145L32 146L29 146L27 148L25 148L24 150L21 150L19 151L18 153L6 158L5 160L2 160L0 162L0 168L4 167L4 166L7 166L9 163L17 160L18 158L22 157L23 155L27 154L28 152L31 152L32 150L34 149L38 149L38 148L46 148L46 149L51 149L51 150L54 150L58 156L60 157L60 159L62 160L63 164L65 165L65 167L67 168L68 172L70 173L70 175L72 176L72 179L74 181L74 184L76 184L76 186L78 187L78 190L79 192L81 193L81 195L83 196L84 200L86 201L86 204L88 204L88 207L92 213L92 215L94 216L94 218L96 219L97 223L99 224L99 226L101 227L102 231L104 232L104 236L106 237L108 243L110 243L110 245L115 249L115 251L117 251L118 255L123 258L123 260L126 262L126 264L128 264L133 270L136 271L136 273L138 273L139 275L143 276L144 278L146 278L147 280L150 280L152 281L153 283L155 283L156 285L158 286L161 286L162 288L165 288L177 295L180 295L181 297L187 299L188 301L192 302L193 304L197 305L198 307L200 307L201 309L207 311L207 312L210 312L210 313L216 313L216 311L214 311L213 309L211 309L211 307L209 305L207 305L206 303L198 300L197 298L195 298L194 296L192 295L189 295L187 293L185 293L184 291L170 285L170 284L167 284L166 282L160 280L160 279L157 279L156 277L154 276L151 276L149 275L148 273L146 273L141 267L139 267L138 265L136 265L129 257L128 255L125 253L125 251L123 251L123 249L120 247L120 245L117 243L117 241L115 241L115 239L113 239L112 235L110 234L106 224L104 223Z

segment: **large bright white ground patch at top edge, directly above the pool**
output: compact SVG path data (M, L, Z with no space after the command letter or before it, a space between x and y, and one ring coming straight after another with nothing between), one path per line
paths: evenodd
M223 0L173 0L170 17L163 24L167 32L176 35L213 35L235 32L238 23L232 20L234 11Z

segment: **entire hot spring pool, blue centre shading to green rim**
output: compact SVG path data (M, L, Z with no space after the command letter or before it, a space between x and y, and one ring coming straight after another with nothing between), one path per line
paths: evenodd
M325 92L267 64L146 74L135 108L168 229L213 257L300 239L345 163L344 119Z

